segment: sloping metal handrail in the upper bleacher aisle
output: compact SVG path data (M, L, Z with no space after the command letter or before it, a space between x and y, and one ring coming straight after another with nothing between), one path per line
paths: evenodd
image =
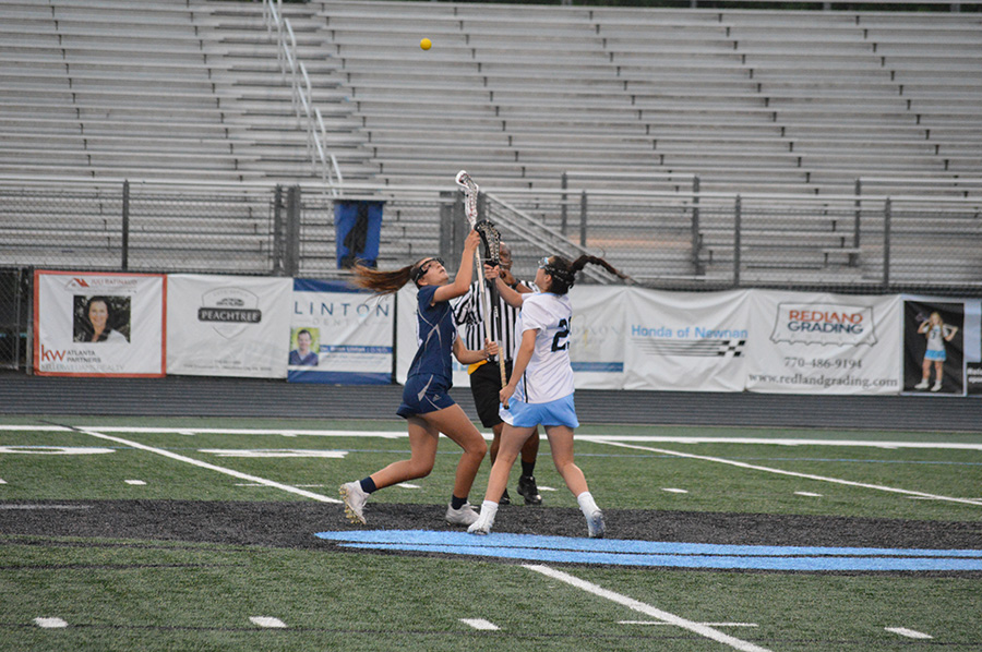
M279 71L290 83L291 104L298 126L307 131L307 154L314 173L321 178L333 196L344 183L337 158L327 148L327 130L321 110L313 102L313 85L307 67L297 57L297 37L289 19L283 16L283 0L263 0L263 23L276 38L276 60Z

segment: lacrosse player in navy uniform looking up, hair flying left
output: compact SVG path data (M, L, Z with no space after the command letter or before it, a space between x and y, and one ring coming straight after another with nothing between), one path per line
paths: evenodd
M403 402L396 411L408 422L410 458L340 486L345 516L352 523L366 523L363 508L371 493L430 473L436 459L440 433L464 449L457 463L451 504L446 508L446 522L469 526L477 520L477 511L467 502L467 496L488 445L460 406L450 397L448 390L453 384L451 352L462 364L481 362L499 352L498 345L490 340L484 342L482 350L467 349L457 335L450 303L470 287L479 244L480 237L471 231L464 243L460 267L453 282L443 261L438 257L426 257L395 271L378 271L360 265L354 268L355 282L380 294L397 292L409 280L416 283L419 288L419 350L409 366Z

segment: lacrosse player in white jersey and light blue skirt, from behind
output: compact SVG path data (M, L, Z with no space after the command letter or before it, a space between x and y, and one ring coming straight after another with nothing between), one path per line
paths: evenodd
M519 338L515 366L501 390L501 416L505 422L498 459L491 468L480 518L468 528L474 534L489 534L494 526L499 499L518 451L537 425L546 428L555 469L576 496L591 538L606 531L603 514L597 507L583 471L573 461L573 431L579 425L573 403L573 366L570 363L570 333L573 306L568 291L584 265L601 265L623 278L602 258L580 256L571 263L562 256L542 258L536 286L542 291L519 294L496 279L499 292L512 305L520 305L515 327Z

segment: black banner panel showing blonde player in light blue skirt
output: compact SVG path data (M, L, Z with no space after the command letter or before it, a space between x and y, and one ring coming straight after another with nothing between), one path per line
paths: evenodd
M965 394L965 304L903 302L903 391Z

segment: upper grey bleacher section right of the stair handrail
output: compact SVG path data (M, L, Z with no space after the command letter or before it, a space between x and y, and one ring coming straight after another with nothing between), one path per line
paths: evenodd
M845 12L321 7L331 52L342 62L339 74L386 182L439 182L427 170L454 167L466 148L482 155L486 173L532 188L550 174L536 171L538 165L558 158L571 169L592 160L606 172L608 161L643 159L637 138L619 138L637 123L652 136L652 156L644 164L674 170L702 162L704 184L714 188L738 186L739 173L716 177L746 164L800 168L799 190L807 193L850 192L852 180L826 173L836 167L859 173L979 169L971 145L917 142L931 137L930 128L918 131L922 125L970 129L978 116L973 83L945 85L923 72L920 86L897 80L905 74L902 57L912 52L931 61L921 69L943 68L927 47L942 36L958 50L956 65L973 61L978 31L962 28L957 17L934 22L917 49L910 19L896 21L906 26L897 31L859 25L855 14ZM429 52L416 45L422 34L434 43ZM900 47L905 43L910 52ZM562 125L555 132L564 143L518 137L519 121L534 117ZM756 135L728 133L724 125L734 122L738 129L753 125ZM724 144L686 143L686 132L707 124L722 124L716 132ZM447 125L467 132L457 146L438 136ZM889 125L890 143L862 137ZM791 130L797 137L787 135ZM727 147L742 150L744 161L728 158ZM426 160L409 170L403 164L409 156ZM510 165L519 162L529 165Z

